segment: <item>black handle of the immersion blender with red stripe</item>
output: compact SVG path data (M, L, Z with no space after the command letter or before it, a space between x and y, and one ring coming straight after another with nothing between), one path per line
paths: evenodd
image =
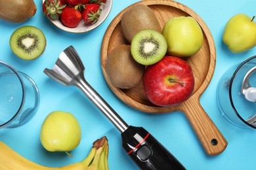
M129 126L121 133L123 148L140 169L185 169L156 138L143 127Z

